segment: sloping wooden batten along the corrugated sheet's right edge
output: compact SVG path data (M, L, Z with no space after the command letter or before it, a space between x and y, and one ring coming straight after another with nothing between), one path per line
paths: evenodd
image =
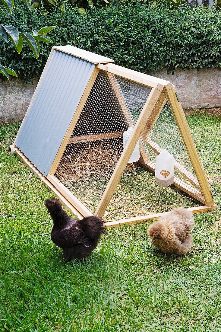
M86 103L86 101L88 99L88 96L89 96L89 94L91 92L91 89L92 89L92 87L94 85L94 82L95 82L95 80L96 80L96 78L98 76L98 73L99 73L99 69L97 69L95 67L95 69L94 69L94 71L93 71L93 73L91 75L91 78L90 78L90 80L89 80L89 82L88 82L88 84L86 86L86 89L85 89L85 91L84 91L84 93L83 93L83 95L81 97L81 100L80 100L80 102L78 104L78 107L77 107L77 109L75 111L75 114L74 114L74 116L73 116L73 118L71 120L71 123L70 123L70 125L69 125L69 127L67 129L67 132L66 132L66 134L65 134L65 136L63 138L63 141L62 141L62 143L61 143L61 145L60 145L60 147L58 149L58 152L57 152L56 157L55 157L55 159L53 161L53 164L52 164L52 166L51 166L51 168L49 170L49 174L50 175L54 175L54 173L56 172L58 164L59 164L59 162L60 162L60 160L61 160L61 158L63 156L64 150L65 150L65 148L66 148L66 146L67 146L67 144L68 144L68 142L70 140L70 137L71 137L71 134L72 134L72 132L73 132L73 130L75 128L75 125L78 122L78 119L79 119L79 117L81 115L81 112L83 110L83 107L84 107L84 105L85 105L85 103Z

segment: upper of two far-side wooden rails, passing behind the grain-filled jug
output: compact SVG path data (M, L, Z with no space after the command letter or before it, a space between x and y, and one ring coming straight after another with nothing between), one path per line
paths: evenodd
M151 138L147 137L144 142L157 154L162 152L162 148L156 144ZM182 166L178 161L174 160L174 168L181 174L185 179L187 179L193 186L200 189L199 182L197 178L190 173L184 166Z

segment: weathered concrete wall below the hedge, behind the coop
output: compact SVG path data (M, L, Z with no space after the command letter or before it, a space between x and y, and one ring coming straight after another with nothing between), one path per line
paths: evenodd
M177 70L167 75L166 70L150 75L171 81L178 92L183 108L196 106L221 107L221 70ZM22 120L37 86L23 84L19 79L0 83L0 121Z

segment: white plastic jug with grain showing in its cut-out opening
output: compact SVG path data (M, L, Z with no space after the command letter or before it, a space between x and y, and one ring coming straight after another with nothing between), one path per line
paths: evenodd
M161 187L168 187L174 182L174 156L163 150L156 157L155 180Z

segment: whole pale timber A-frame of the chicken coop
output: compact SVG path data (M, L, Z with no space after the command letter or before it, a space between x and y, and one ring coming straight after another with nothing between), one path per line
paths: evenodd
M15 146L15 151L16 151L16 154L18 155L18 157L26 165L29 166L29 168L32 170L32 172L34 172L34 174L37 177L39 177L52 190L52 192L56 196L58 196L58 198L63 202L65 207L67 207L74 214L76 214L78 216L78 218L82 218L83 216L92 215L92 212L87 207L85 207L85 205L82 202L80 202L65 186L63 186L63 184L60 181L58 181L54 177L54 173L58 167L58 164L62 158L62 155L64 153L64 150L65 150L67 144L122 137L122 134L123 134L123 132L115 131L115 132L108 132L108 133L101 133L101 134L89 134L89 135L84 135L84 136L71 137L71 134L81 115L83 107L87 101L87 98L88 98L88 96L91 92L91 89L94 85L94 82L97 78L97 75L98 75L99 71L102 70L102 71L105 71L106 73L112 74L112 75L107 75L107 77L108 77L108 79L111 83L111 86L113 88L113 91L118 99L120 108L122 110L122 114L123 114L128 126L133 126L134 121L131 117L131 114L126 105L125 99L122 95L121 90L119 89L117 80L114 75L123 77L125 79L128 79L130 81L133 81L133 82L136 82L139 84L143 84L145 86L152 88L152 90L151 90L150 95L134 126L134 130L129 137L126 147L123 150L123 152L118 160L118 163L114 169L114 172L111 175L109 183L104 191L104 194L96 209L95 214L98 214L99 216L103 216L103 214L105 213L105 210L111 200L111 197L116 189L116 186L120 180L120 177L122 176L122 173L128 163L128 160L129 160L138 140L140 141L140 152L141 152L139 162L143 166L145 166L149 170L151 170L152 172L155 172L155 165L154 165L154 163L152 163L149 160L146 149L143 145L143 142L145 144L147 144L151 149L153 149L157 154L159 154L161 152L161 147L158 146L155 142L153 142L148 137L148 135L149 135L149 132L151 131L151 129L153 128L159 114L161 113L161 111L167 101L170 103L171 109L173 110L175 120L180 129L181 136L183 138L188 155L189 155L191 163L193 165L193 169L196 174L196 177L193 176L188 170L186 170L184 168L184 166L182 166L180 163L178 163L176 161L175 169L185 179L187 179L190 182L190 184L192 184L195 188L192 188L190 185L184 183L181 179L178 179L176 177L174 178L173 184L175 185L175 187L183 190L189 196L193 197L194 199L197 199L199 202L201 202L203 204L203 206L201 206L201 207L189 208L189 210L192 211L193 213L204 212L204 211L208 211L210 209L217 208L217 206L214 204L212 193L210 191L210 187L209 187L205 172L203 170L198 152L197 152L195 144L193 142L191 132L190 132L188 124L186 122L182 106L177 99L176 89L174 88L174 86L171 82L117 66L115 64L110 63L112 61L111 59L102 57L100 55L95 55L91 52L87 52L84 50L79 50L79 49L69 46L69 45L68 46L53 46L52 50L50 52L50 55L48 57L47 63L45 65L45 68L44 68L42 75L40 77L40 80L38 82L36 91L33 95L29 108L26 112L25 118L23 119L23 122L21 124L21 127L25 122L25 119L26 119L27 114L30 110L30 107L33 103L33 100L36 96L37 90L41 84L42 78L43 78L45 70L49 64L49 61L53 54L54 49L60 50L62 52L68 53L68 54L72 54L72 55L82 58L84 60L95 63L97 65L95 66L92 76L82 95L82 98L78 104L76 112L73 115L71 123L70 123L70 125L66 131L66 134L64 136L64 139L58 149L57 155L53 161L53 164L50 168L47 178L45 178L37 170L37 168L28 160L28 158L26 158L26 156L24 156L24 154L16 147L16 145L15 145L16 140L14 142L14 146ZM109 62L109 63L106 63L106 62ZM106 63L106 64L104 64L104 63ZM148 123L148 125L147 125L147 123ZM21 127L19 129L19 132L18 132L16 138L18 137L18 135L20 133ZM198 191L198 189L201 189L202 193L200 191ZM108 221L106 223L106 226L111 227L111 226L119 226L120 224L135 224L136 222L143 222L143 221L147 221L147 220L151 220L151 219L157 219L161 215L163 215L163 213L150 214L150 215L145 215L145 216L141 216L141 217L137 217L137 218L122 219L122 220L118 220L118 221Z

